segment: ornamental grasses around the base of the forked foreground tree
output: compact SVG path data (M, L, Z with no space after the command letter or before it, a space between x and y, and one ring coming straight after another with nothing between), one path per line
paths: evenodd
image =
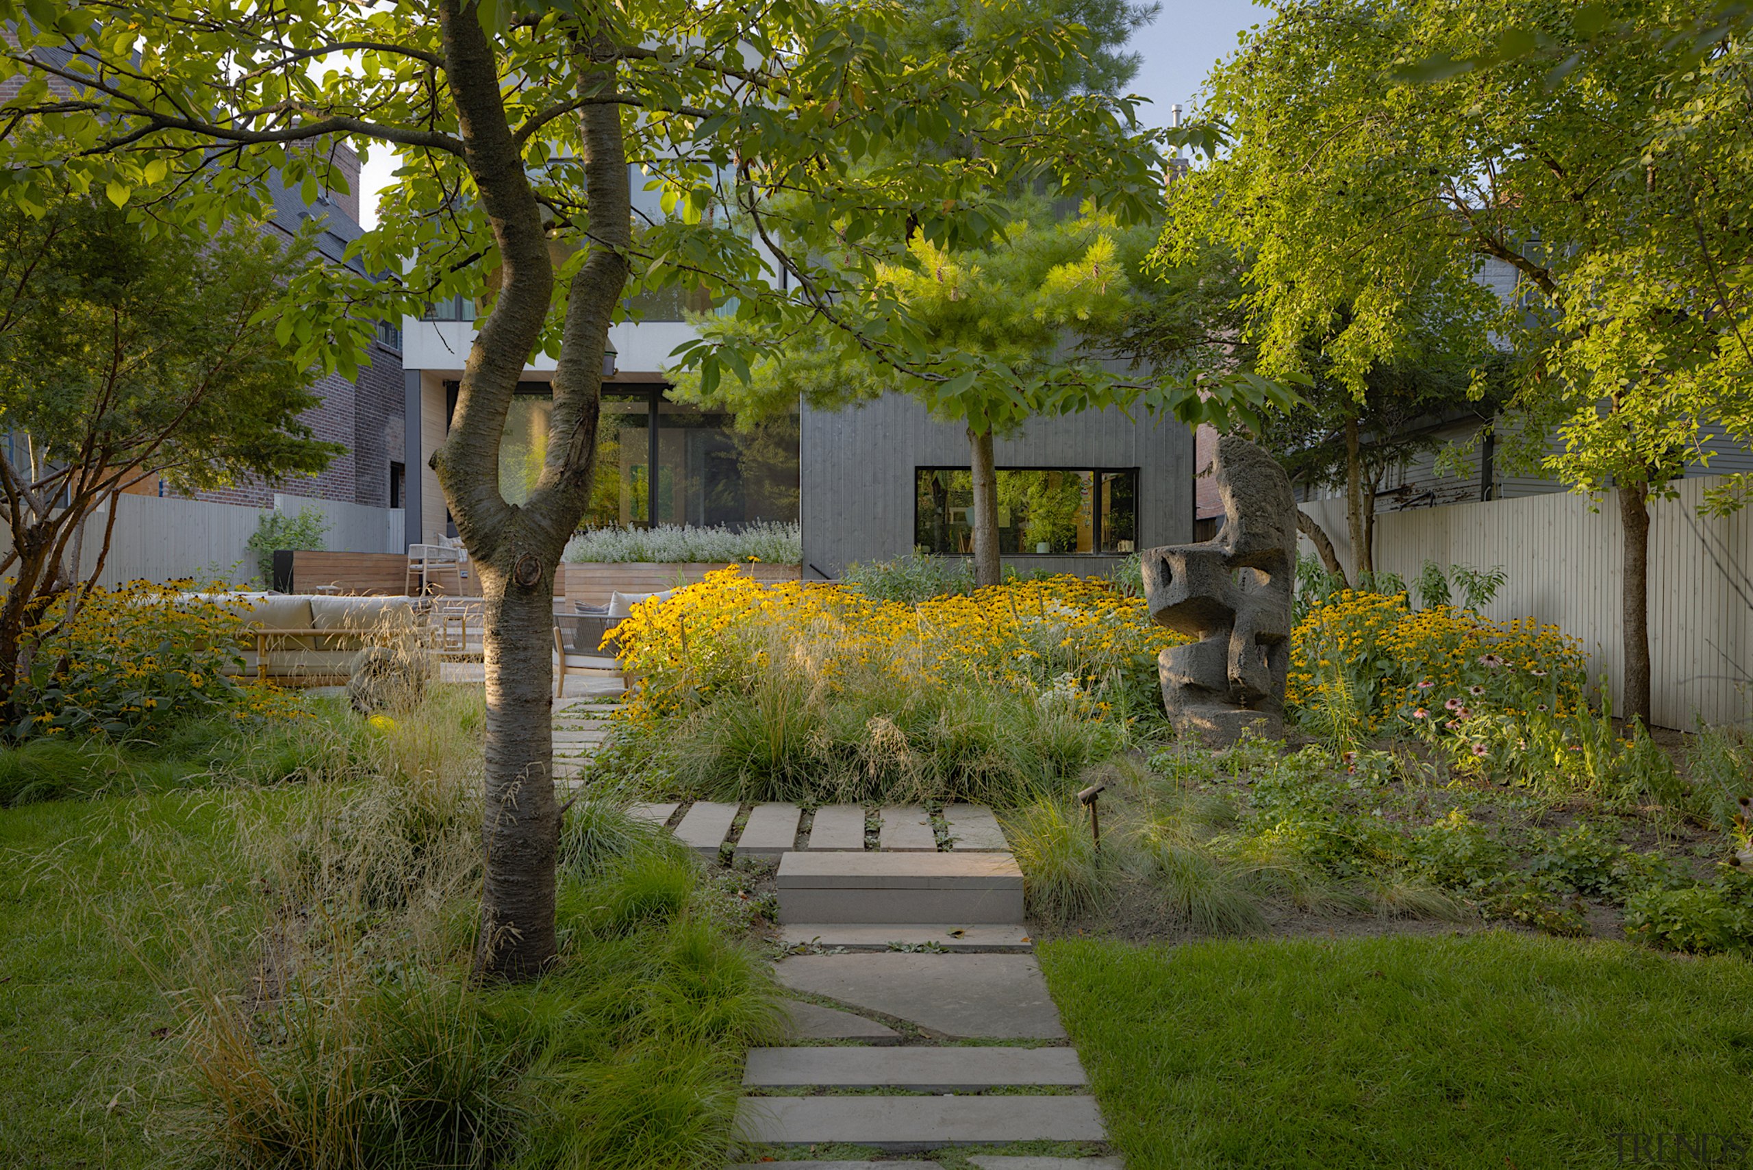
M726 1165L742 1054L780 1014L699 865L582 802L557 961L479 982L480 695L354 719L352 784L209 796L235 823L219 886L179 884L177 842L133 842L158 903L116 926L163 940L184 1144L275 1170Z

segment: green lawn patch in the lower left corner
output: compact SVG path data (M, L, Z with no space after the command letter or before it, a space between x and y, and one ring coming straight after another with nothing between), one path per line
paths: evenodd
M216 861L219 816L198 793L0 810L0 1165L163 1165L145 1119L179 1019L140 926L172 875L147 872L130 838L177 838L174 877L210 882L219 907L242 881Z

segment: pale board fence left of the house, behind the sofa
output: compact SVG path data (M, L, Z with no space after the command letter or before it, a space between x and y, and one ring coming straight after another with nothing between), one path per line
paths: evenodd
M319 509L330 521L323 537L328 549L344 553L405 553L403 509L380 509L340 500L273 496L273 510L296 516L303 507ZM116 500L116 531L100 584L175 577L228 579L238 584L256 575L249 537L268 509L172 496L121 496ZM95 516L86 535L82 568L96 563L107 516Z

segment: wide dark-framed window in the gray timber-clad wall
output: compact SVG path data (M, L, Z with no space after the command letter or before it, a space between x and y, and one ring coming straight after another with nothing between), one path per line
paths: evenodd
M968 468L920 467L915 484L913 544L927 553L973 553ZM1138 470L999 468L997 547L1006 556L1132 553Z

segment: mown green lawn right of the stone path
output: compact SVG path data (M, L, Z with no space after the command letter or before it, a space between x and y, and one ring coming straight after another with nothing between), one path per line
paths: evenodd
M1487 931L1069 940L1041 967L1129 1170L1611 1166L1622 1131L1753 1137L1737 958Z

